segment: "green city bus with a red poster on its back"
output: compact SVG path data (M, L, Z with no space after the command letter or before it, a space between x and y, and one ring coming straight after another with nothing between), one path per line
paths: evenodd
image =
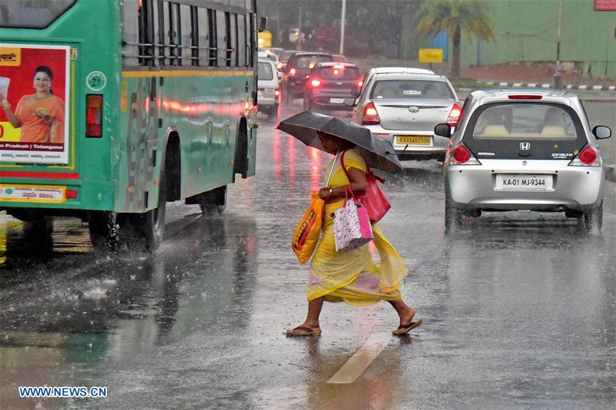
M255 173L256 0L3 0L0 210L155 250Z

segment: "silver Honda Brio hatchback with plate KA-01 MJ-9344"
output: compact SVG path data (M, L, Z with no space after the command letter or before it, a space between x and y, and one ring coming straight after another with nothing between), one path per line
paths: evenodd
M434 132L448 137L450 127ZM481 90L465 101L445 158L445 229L482 211L565 212L601 228L605 172L576 94Z

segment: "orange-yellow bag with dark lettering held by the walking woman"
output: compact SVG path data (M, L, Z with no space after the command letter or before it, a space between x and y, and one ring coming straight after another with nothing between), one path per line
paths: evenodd
M291 248L300 264L304 264L315 252L321 234L324 205L325 202L319 198L317 191L312 191L312 203L297 225L291 240Z

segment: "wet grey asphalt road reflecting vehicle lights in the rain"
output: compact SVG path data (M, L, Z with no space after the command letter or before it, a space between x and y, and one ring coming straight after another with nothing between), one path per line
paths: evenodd
M598 107L589 116L614 120ZM388 304L326 304L321 337L290 339L308 266L289 242L329 158L274 125L263 118L258 175L230 186L222 216L168 205L155 255L97 257L79 220L57 220L41 240L0 216L1 409L613 406L616 184L602 233L506 213L445 237L438 164L407 162L388 177L380 226L425 323L392 337ZM358 350L375 359L358 357L369 366L352 383L327 383ZM25 385L106 386L108 397L21 399Z

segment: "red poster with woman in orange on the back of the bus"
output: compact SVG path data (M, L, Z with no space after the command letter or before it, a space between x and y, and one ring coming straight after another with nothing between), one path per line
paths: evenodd
M0 162L67 164L69 46L0 43Z

